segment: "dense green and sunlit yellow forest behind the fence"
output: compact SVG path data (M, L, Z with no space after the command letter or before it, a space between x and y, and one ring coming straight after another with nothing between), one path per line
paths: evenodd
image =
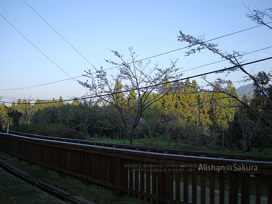
M239 101L235 99L239 96L231 81L226 85L226 91L231 93L228 95L218 91L216 86L213 90L200 90L195 80L190 82L187 79L179 82L178 88L165 83L165 89L171 90L167 93L143 93L140 97L134 90L127 96L122 93L123 85L117 79L114 90L118 91L113 92L111 100L122 103L123 112L118 110L118 106L88 97L64 102L60 96L58 100L37 99L35 103L18 99L11 106L1 103L0 124L3 128L6 128L7 123L12 124L7 113L18 110L22 113L19 130L39 135L125 140L129 137L127 128L134 129L133 138L145 138L150 142L149 145L163 138L175 143L177 148L183 143L189 147L201 146L220 152L224 149L248 152L252 147L272 148L271 76L260 72L255 77L262 91L254 83L252 97L247 98L244 94ZM263 93L269 98L264 97ZM146 99L144 94L149 98L147 101L163 97L154 100L133 127L135 123L130 121L134 121L137 115L137 100Z

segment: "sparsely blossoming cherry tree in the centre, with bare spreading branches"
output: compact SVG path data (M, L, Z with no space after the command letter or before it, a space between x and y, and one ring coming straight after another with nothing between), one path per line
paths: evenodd
M99 70L94 68L94 74L92 70L85 71L84 76L90 81L80 83L89 88L98 101L117 110L113 114L121 119L125 136L133 144L136 127L143 113L171 90L160 84L164 83L166 76L168 79L176 80L181 74L173 75L179 70L176 68L177 60L170 61L170 66L167 68L160 68L157 62L151 65L150 60L136 60L137 55L132 47L129 48L130 61L126 61L123 54L111 51L119 62L111 60L106 62L116 66L118 70L116 74L109 75L103 67ZM117 82L122 82L122 86L116 84ZM162 92L164 94L153 94Z

